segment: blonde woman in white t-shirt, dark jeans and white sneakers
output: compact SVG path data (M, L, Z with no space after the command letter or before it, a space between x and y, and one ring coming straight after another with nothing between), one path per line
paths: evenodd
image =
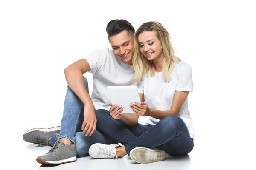
M163 161L165 152L188 154L195 139L187 99L193 91L192 70L175 57L169 33L161 23L143 23L134 34L133 67L133 82L145 102L132 104L134 113L129 115L122 113L122 106L96 111L97 128L125 146L93 144L90 156L128 154L144 164ZM149 116L146 125L138 123L139 116Z

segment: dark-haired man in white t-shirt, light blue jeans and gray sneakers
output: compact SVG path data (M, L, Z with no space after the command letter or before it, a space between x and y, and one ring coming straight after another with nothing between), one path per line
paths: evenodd
M106 31L112 50L106 48L94 51L64 70L68 89L61 127L32 129L23 135L25 141L39 143L38 147L53 146L48 153L36 159L38 163L73 162L76 161L76 155L87 154L93 143L113 143L96 130L95 110L109 110L111 107L107 86L130 85L134 75L132 50L135 30L126 20L111 20ZM83 77L87 71L93 74L91 97L87 79Z

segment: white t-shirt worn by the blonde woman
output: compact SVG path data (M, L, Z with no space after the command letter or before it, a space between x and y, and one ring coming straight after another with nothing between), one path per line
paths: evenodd
M144 94L144 100L149 108L160 111L170 110L175 91L193 92L192 70L186 62L175 63L170 76L171 81L166 82L162 72L155 72L153 77L148 73L148 76L145 75L140 84L137 85L138 92ZM192 127L192 119L188 109L188 98L182 105L178 116L186 123L190 137L195 139L195 131ZM148 117L147 125L154 126L160 121L159 119Z

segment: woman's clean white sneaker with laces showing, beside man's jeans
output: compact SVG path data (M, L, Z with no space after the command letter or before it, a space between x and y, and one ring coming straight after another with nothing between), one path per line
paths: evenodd
M116 147L119 147L119 145L96 143L90 146L89 155L93 158L113 158L117 160Z

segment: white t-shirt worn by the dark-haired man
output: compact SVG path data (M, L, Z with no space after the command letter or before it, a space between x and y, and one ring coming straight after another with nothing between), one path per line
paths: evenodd
M93 74L93 105L96 110L109 110L111 100L107 87L130 85L135 73L133 65L123 63L109 48L96 50L84 59L90 65L89 72Z

